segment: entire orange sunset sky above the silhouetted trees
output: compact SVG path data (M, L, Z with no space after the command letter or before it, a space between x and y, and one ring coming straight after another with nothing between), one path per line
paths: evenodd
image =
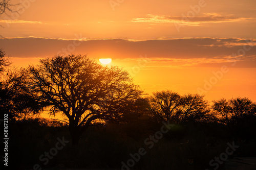
M256 101L256 1L12 1L0 48L13 66L56 54L112 58L147 94Z

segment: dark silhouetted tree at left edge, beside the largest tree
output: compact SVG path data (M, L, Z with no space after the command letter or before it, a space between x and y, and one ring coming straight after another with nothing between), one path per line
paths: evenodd
M8 114L10 120L22 118L40 111L33 94L26 86L28 71L22 69L8 69L2 75L0 84L0 109L2 114Z

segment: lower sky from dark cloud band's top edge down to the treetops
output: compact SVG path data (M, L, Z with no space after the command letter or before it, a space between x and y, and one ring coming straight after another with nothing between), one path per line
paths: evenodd
M36 65L40 59L56 54L87 54L98 63L100 58L112 58L111 65L127 70L134 83L140 85L145 93L168 89L181 94L199 93L205 95L208 101L239 96L256 101L255 43L255 39L192 37L140 41L35 37L0 39L6 56L13 62L11 66ZM184 50L181 51L181 48ZM233 57L232 52L243 48L250 49L245 57ZM223 66L227 67L224 72ZM159 76L162 72L166 74Z

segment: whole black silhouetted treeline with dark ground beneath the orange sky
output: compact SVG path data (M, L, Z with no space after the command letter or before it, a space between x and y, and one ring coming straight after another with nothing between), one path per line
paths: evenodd
M71 141L67 148L47 164L39 161L41 167L118 168L130 153L147 147L145 139L163 121L174 127L131 168L206 168L227 141L239 143L240 154L255 153L256 103L248 98L210 105L199 94L164 90L147 96L126 71L87 56L55 56L21 69L8 67L4 56L0 51L0 108L12 125L12 153L23 155L14 156L17 166L31 168L65 136ZM31 118L42 111L63 119Z

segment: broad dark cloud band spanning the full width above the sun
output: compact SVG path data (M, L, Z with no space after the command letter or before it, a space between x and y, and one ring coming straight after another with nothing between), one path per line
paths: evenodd
M12 57L54 56L74 40L47 38L0 38L6 54ZM102 39L81 40L72 54L91 58L108 56L119 63L148 60L146 68L221 67L237 62L236 67L256 67L256 39L241 38L162 38L157 40ZM245 54L243 55L243 51ZM143 58L143 59L144 59ZM133 64L131 66L134 66Z

